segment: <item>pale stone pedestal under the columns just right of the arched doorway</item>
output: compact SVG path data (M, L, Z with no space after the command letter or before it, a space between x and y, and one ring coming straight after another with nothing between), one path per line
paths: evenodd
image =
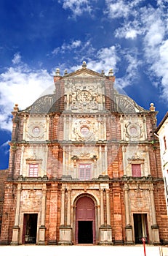
M100 227L99 229L99 243L101 245L112 245L112 230L111 227Z

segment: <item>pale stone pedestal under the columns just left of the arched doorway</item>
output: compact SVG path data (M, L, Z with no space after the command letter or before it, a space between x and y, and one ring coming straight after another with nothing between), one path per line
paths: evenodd
M58 241L58 245L72 245L71 232L71 227L60 227L60 241Z

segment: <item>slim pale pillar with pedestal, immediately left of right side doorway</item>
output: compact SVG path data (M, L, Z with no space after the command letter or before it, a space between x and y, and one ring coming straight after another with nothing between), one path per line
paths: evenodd
M129 188L125 184L125 215L126 215L126 239L127 244L133 244L132 241L132 225L130 225L130 215L129 215Z

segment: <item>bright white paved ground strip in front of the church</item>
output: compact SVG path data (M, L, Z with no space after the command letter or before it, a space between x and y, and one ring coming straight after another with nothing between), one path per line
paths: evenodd
M168 247L145 246L146 256L168 256ZM0 246L0 256L144 256L140 246Z

